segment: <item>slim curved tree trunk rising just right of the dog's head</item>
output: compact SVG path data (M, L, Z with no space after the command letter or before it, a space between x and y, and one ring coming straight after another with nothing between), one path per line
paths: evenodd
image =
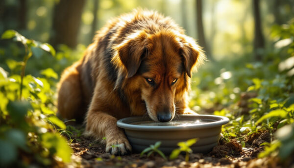
M197 35L198 35L198 44L203 48L205 54L209 60L212 61L210 50L207 43L205 42L203 22L202 22L202 0L196 0L196 18L197 18Z

